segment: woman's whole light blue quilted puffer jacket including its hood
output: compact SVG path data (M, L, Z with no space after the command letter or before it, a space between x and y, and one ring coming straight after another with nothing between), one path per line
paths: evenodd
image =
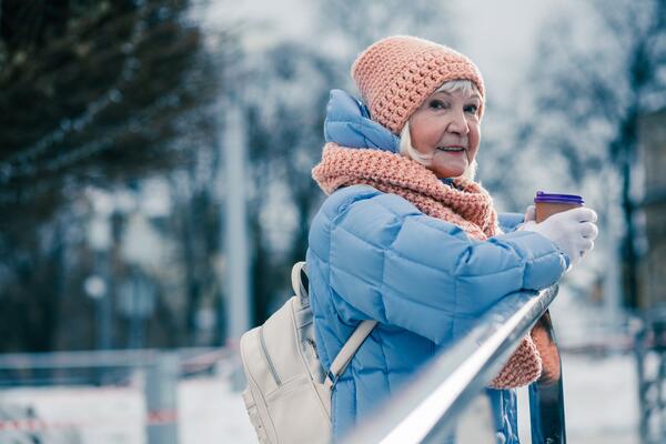
M327 112L326 141L397 152L397 138L369 120L345 92L332 91ZM503 296L541 290L561 278L565 258L541 234L514 231L519 222L519 214L501 214L506 234L480 242L372 186L347 186L327 198L312 222L306 255L324 367L360 321L379 321L334 389L335 437ZM487 394L496 431L504 442L517 443L514 391Z

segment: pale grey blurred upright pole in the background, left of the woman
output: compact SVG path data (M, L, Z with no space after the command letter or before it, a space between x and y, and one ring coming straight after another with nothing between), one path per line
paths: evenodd
M238 340L250 329L250 255L248 242L245 151L243 113L239 105L223 101L225 122L221 149L224 159L226 339Z

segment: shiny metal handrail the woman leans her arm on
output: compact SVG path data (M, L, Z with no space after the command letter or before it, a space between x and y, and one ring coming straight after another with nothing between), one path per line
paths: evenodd
M546 312L557 290L553 285L538 293L521 291L504 297L344 442L442 442L454 430L458 414L497 375Z

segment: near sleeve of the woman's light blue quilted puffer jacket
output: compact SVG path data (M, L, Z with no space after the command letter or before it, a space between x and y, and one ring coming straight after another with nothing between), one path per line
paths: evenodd
M437 344L504 295L549 286L565 270L541 234L474 241L406 200L363 185L326 200L310 249L329 263L331 296L343 319L374 319Z

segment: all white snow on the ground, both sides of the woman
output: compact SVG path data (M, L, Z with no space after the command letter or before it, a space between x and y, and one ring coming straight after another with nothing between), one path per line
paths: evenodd
M563 363L568 441L638 443L637 382L632 355L565 354ZM182 381L178 397L180 443L255 442L241 395L232 390L229 379ZM529 443L526 393L521 393L519 403L521 436ZM0 404L32 405L42 420L75 424L84 444L147 443L145 404L139 387L10 389L0 391Z

